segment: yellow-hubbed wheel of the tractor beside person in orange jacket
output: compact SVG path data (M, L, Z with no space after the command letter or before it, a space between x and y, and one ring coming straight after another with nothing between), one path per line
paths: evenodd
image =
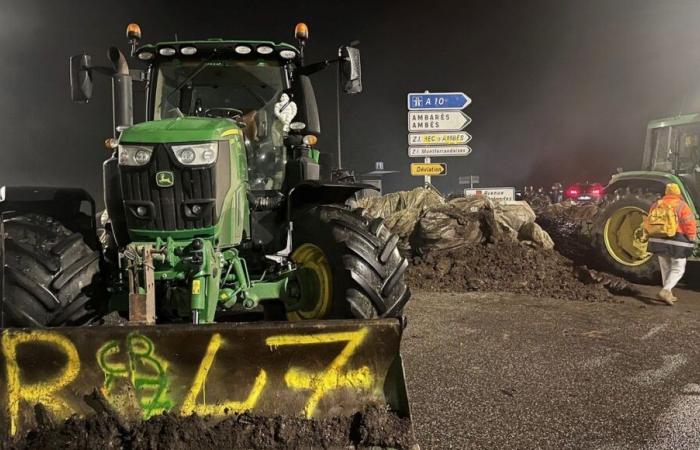
M595 223L594 246L605 266L634 282L654 283L659 265L647 251L642 221L658 198L650 192L620 190L602 206Z

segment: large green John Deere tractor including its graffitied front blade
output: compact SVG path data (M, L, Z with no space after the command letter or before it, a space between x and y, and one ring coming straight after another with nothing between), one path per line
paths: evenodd
M0 190L6 429L31 426L32 402L59 418L87 413L95 388L144 418L311 418L373 402L407 416L408 262L381 220L345 206L372 187L322 180L316 147L310 76L337 64L339 89L360 92L359 50L306 64L304 24L298 46L140 45L136 24L127 37L140 69L114 47L111 66L70 59L73 101L91 99L97 74L112 82L106 211L81 189ZM135 83L146 91L138 124Z

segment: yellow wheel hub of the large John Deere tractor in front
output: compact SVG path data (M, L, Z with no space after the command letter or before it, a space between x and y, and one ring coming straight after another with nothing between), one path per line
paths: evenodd
M297 264L301 299L299 309L287 313L287 318L324 318L333 300L333 276L325 253L313 244L304 244L292 253L292 261Z

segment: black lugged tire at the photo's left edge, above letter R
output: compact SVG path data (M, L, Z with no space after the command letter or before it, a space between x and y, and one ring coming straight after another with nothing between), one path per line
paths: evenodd
M94 318L99 253L51 217L5 219L3 326L82 325Z

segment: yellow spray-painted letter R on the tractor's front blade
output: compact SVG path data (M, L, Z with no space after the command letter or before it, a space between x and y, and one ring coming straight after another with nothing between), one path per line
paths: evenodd
M61 372L53 378L35 383L23 383L17 364L17 347L27 343L46 343L53 345L66 356L66 364ZM10 436L17 433L19 406L21 401L30 404L43 403L47 408L60 411L65 407L56 392L76 379L80 373L80 358L75 345L59 333L47 331L27 331L2 335L2 351L5 355L7 369L7 403L10 418Z

